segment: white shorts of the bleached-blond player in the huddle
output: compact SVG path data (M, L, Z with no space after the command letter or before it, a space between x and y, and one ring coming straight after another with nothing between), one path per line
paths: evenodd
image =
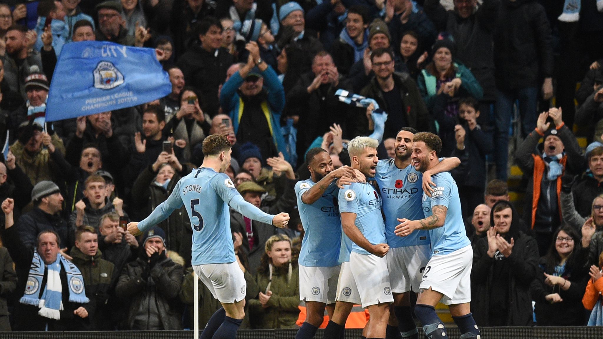
M376 255L350 253L350 268L358 287L362 307L394 302L391 296L387 259Z

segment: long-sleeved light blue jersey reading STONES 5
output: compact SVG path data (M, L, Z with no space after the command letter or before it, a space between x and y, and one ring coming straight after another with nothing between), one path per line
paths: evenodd
M192 264L234 262L229 203L235 197L242 200L229 176L212 168L198 168L180 179L168 199L140 221L138 228L144 231L160 223L184 204L193 228ZM272 223L272 215L257 208L253 213L257 214L256 220Z

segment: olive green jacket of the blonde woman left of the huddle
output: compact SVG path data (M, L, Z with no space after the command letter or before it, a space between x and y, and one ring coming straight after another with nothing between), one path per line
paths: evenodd
M300 313L300 279L297 262L292 265L291 279L287 281L289 265L282 268L273 268L272 279L268 277L268 270L256 273L256 282L259 290L266 293L268 282L272 296L268 300L268 307L262 308L259 299L249 300L251 325L255 329L283 329L297 328L295 322Z

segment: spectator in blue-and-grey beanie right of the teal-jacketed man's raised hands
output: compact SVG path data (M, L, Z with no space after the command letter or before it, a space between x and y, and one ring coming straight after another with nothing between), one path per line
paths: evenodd
M239 33L245 38L245 42L255 41L260 49L260 59L264 60L271 68L277 69L276 57L278 53L274 48L274 36L268 25L260 19L245 20ZM247 60L249 51L243 49L239 54L239 60Z

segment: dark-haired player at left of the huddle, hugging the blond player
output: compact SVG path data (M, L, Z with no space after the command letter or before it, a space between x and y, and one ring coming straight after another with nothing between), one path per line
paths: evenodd
M306 302L306 321L296 339L311 339L323 323L324 309L333 318L335 293L340 265L341 221L336 203L335 180L355 176L343 166L333 170L333 161L323 148L312 148L306 154L311 179L295 185L297 206L306 234L299 255L300 300ZM347 182L346 185L349 185ZM344 185L344 182L339 182Z

